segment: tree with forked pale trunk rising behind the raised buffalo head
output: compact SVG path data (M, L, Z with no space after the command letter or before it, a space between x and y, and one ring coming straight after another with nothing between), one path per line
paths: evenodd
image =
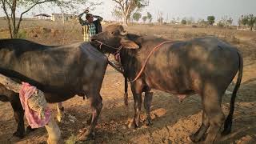
M122 23L124 26L128 26L130 15L135 11L142 10L147 6L143 0L112 0L118 5L114 7L114 10L122 13Z

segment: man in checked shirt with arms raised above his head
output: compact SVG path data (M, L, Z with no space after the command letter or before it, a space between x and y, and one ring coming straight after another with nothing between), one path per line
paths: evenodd
M82 19L82 15L86 14L86 20ZM94 21L94 18L97 20ZM82 14L78 15L78 19L80 24L83 26L83 41L90 42L90 37L102 32L101 22L103 20L102 17L89 14L89 10L84 11Z

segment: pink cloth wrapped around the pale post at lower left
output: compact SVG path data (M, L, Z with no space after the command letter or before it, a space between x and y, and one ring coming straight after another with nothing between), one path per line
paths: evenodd
M37 88L30 86L29 83L22 82L22 88L19 91L19 98L22 103L23 110L25 110L26 120L32 128L46 126L50 121L50 108L46 107L42 111L44 117L39 111L32 110L28 104L28 99L37 91ZM39 102L40 103L40 102Z

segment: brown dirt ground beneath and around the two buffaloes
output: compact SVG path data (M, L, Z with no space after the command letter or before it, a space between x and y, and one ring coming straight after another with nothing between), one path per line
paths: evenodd
M150 29L151 27L148 27ZM137 33L146 33L146 28L138 31L139 27L133 26L128 30ZM160 37L174 39L189 39L196 36L194 34L208 35L207 32L194 32L192 28L170 28L167 34L163 34L159 28ZM143 31L144 30L144 31ZM201 29L198 29L201 30ZM150 31L150 30L149 30ZM190 31L190 33L187 33ZM209 30L209 33L214 30ZM216 30L215 30L216 31ZM256 143L256 33L246 32L226 32L219 30L216 34L225 33L218 37L231 42L242 51L244 57L244 72L242 85L238 90L235 102L234 122L231 134L220 138L221 143ZM175 36L173 33L175 33ZM186 33L185 33L186 32ZM183 35L182 35L183 34ZM184 35L190 34L185 37ZM213 33L214 34L214 33ZM215 35L216 35L215 34ZM181 37L182 38L179 38ZM50 36L49 36L50 38ZM29 39L43 42L43 39L30 37ZM75 41L75 40L74 40ZM73 41L72 41L73 42ZM234 79L234 83L236 78ZM232 91L234 83L228 88ZM84 143L191 143L187 138L190 134L198 130L202 121L202 105L198 95L186 98L184 102L178 102L178 98L172 94L154 90L153 103L151 107L152 126L143 124L144 114L142 114L141 126L138 129L128 128L128 121L133 117L133 98L129 90L129 111L126 112L123 105L124 83L121 74L118 74L112 67L108 67L104 82L102 84L103 109L98 120L97 133L94 141ZM225 95L222 101L222 110L225 114L229 110L230 95ZM50 105L56 114L55 105ZM73 143L75 137L86 126L86 119L90 116L89 101L80 97L74 97L64 102L66 118L63 123L59 123L62 131L62 138L66 143ZM144 112L144 109L142 108ZM74 118L69 118L68 115ZM70 119L74 119L71 121ZM35 130L26 134L25 138L12 138L17 124L14 121L13 111L9 102L0 102L0 143L46 143L47 133L45 128Z

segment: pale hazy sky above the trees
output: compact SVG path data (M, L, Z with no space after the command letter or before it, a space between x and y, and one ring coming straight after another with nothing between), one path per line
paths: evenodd
M149 11L153 15L153 22L156 22L158 12L162 12L163 18L170 22L173 18L203 18L206 20L207 16L214 15L216 21L223 16L231 17L234 19L234 24L237 24L238 18L242 14L254 14L256 15L256 0L149 0L150 5L146 6L142 10L142 15ZM115 2L112 0L102 0L102 6L96 6L96 9L92 11L93 14L101 15L105 20L114 20L111 11L114 8ZM82 12L86 6L78 8L77 13ZM46 11L44 11L46 10ZM38 8L31 10L26 17L30 17L33 14L38 13L58 13L58 8L45 8L39 10ZM33 12L33 14L32 14ZM0 11L0 15L3 12Z

